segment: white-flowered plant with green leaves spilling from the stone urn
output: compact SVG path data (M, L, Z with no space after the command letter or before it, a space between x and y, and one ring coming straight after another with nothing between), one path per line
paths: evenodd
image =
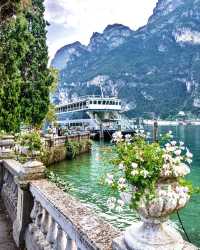
M166 204L168 198L178 199L174 210L179 205L184 206L191 188L183 177L190 173L193 155L183 142L163 143L164 139L172 139L171 132L160 143L150 142L144 130L137 132L134 136L123 137L121 132L113 135L115 167L107 174L106 183L119 192L120 199L111 197L108 206L120 210L127 203L131 208L137 208L141 202L155 201L159 195L165 196ZM168 181L161 190L159 183L169 179L172 184Z

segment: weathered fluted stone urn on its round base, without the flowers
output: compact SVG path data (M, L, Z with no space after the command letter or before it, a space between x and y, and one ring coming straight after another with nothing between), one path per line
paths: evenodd
M141 199L138 213L141 222L134 223L124 235L128 249L137 250L175 250L183 249L182 236L167 221L169 215L183 208L190 196L174 177L160 178L155 198Z

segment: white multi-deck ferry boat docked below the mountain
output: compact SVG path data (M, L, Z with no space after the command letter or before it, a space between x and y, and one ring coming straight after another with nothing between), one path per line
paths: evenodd
M56 107L57 122L69 128L90 131L120 126L121 100L117 97L86 96Z

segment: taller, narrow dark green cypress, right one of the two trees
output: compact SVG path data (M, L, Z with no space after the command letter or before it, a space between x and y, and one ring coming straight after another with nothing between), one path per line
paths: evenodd
M50 87L54 81L48 68L46 45L46 21L43 0L32 0L32 8L26 12L29 30L34 37L22 68L21 119L35 127L44 120L50 104Z

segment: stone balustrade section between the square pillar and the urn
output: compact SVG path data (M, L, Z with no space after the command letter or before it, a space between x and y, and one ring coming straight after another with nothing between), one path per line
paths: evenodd
M112 249L119 232L47 180L33 181L27 249Z

